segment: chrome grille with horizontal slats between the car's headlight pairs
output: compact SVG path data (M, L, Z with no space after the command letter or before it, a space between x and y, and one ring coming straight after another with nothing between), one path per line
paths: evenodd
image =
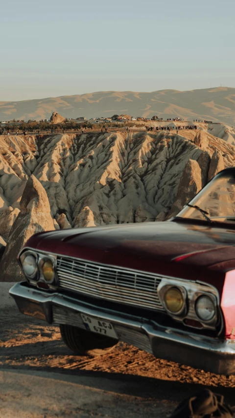
M157 295L161 277L141 271L57 257L59 287L99 299L163 310Z

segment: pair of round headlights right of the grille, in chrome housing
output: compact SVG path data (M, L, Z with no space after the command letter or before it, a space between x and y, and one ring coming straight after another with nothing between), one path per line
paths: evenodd
M217 302L215 295L199 291L197 286L163 283L159 296L168 314L178 320L186 318L200 321L205 326L215 324L217 317Z

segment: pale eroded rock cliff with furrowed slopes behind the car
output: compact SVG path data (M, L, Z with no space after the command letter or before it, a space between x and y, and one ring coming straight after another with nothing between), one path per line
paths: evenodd
M20 209L33 173L47 192L56 228L163 220L176 201L189 159L200 166L202 186L212 156L210 171L214 166L215 151L223 167L235 165L233 145L208 131L199 133L0 136L2 210ZM203 148L193 143L195 135L203 139Z

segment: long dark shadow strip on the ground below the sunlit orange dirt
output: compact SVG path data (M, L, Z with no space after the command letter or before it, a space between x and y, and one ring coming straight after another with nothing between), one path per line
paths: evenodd
M6 369L1 369L6 370ZM7 368L7 371L47 377L51 380L70 382L93 389L125 394L129 396L152 399L156 401L167 400L179 402L202 389L210 389L214 393L224 395L225 401L235 405L234 388L204 386L202 384L188 384L177 381L167 381L158 378L136 376L93 370L61 370L56 367L40 368L22 365L19 368Z

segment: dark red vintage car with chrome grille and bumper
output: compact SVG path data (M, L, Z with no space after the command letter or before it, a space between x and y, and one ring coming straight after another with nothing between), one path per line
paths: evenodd
M162 359L235 373L235 168L218 173L174 218L32 236L25 314L60 326L79 355L118 341Z

